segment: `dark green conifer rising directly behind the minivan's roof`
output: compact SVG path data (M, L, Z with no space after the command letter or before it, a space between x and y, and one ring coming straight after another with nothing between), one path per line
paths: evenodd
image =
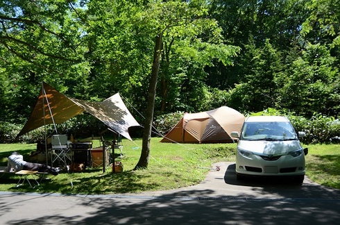
M255 48L255 43L246 46L248 52L244 60L248 61L246 74L241 85L236 85L231 92L231 99L239 99L241 110L259 111L274 107L277 98L275 76L282 70L282 57L267 39L263 48ZM241 94L241 96L235 96Z

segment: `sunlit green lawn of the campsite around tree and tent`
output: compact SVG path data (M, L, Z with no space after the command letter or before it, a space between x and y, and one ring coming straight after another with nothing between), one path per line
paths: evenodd
M203 181L209 169L216 162L235 162L236 144L171 144L160 143L161 138L151 139L151 154L148 169L133 171L139 160L142 140L133 142L124 139L124 172L112 174L111 169L87 168L83 173L60 173L49 175L50 181L43 181L35 189L29 185L15 188L17 176L0 175L0 191L58 192L62 194L114 194L138 193L154 190L171 190ZM94 142L94 147L99 147ZM313 181L340 189L340 145L309 145L306 156L307 176ZM0 144L0 166L7 165L12 151L24 155L36 149L35 144ZM116 154L119 153L115 152Z

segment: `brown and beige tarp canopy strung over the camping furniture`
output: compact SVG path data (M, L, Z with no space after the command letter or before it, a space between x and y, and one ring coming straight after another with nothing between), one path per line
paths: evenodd
M118 93L102 102L89 102L67 97L43 83L33 112L17 136L24 135L44 124L53 124L53 120L55 124L60 124L84 111L100 119L105 125L129 140L131 138L128 128L139 126Z

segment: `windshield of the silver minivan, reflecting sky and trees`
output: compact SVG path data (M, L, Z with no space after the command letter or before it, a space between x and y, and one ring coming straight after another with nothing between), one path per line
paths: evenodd
M289 122L246 122L241 140L296 140L297 135Z

